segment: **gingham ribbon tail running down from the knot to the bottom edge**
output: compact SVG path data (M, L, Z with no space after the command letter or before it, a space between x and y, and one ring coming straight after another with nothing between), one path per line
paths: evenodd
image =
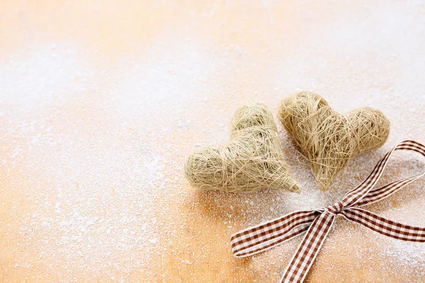
M305 234L300 246L290 260L288 267L280 278L280 283L301 283L322 248L324 239L334 225L336 215L329 212L320 214L314 219Z

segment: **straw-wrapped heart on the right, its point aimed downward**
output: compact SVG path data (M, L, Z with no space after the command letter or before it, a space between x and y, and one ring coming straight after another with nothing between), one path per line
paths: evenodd
M310 161L322 190L352 158L382 146L390 132L390 121L378 110L358 108L341 115L309 92L283 100L278 118Z

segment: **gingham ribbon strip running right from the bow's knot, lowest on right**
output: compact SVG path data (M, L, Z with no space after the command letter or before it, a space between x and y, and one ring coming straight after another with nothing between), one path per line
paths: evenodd
M346 219L361 224L382 235L403 241L425 242L425 228L401 224L358 207L340 213Z

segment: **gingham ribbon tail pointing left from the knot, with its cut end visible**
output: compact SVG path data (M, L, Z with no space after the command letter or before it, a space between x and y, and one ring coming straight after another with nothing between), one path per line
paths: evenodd
M239 231L230 240L232 253L244 258L280 245L307 231L318 215L316 211L293 212Z

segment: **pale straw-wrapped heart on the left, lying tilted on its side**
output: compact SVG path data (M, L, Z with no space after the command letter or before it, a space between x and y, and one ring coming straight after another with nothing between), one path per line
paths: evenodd
M191 154L185 174L200 190L300 190L288 172L273 115L262 104L239 108L232 119L230 140Z

